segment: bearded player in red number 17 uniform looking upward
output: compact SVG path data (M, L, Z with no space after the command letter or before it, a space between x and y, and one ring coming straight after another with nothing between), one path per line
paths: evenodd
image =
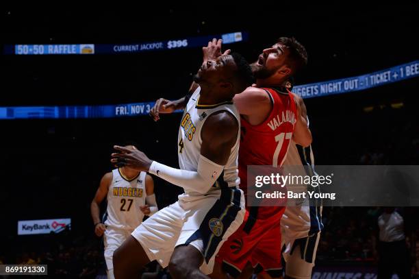
M204 61L220 56L220 49L220 40L210 42L203 48ZM279 38L251 65L257 79L255 86L233 98L242 115L239 176L240 188L244 191L248 165L279 167L291 139L303 147L312 142L303 100L283 86L306 63L307 52L299 42L294 38ZM193 88L194 84L190 91L193 92ZM183 106L185 99L188 97L177 101L159 99L151 116L157 121L159 112L173 112ZM261 276L280 278L280 220L284 210L284 207L249 207L242 226L221 247L212 278L226 278L227 274L238 277L248 262L266 271Z

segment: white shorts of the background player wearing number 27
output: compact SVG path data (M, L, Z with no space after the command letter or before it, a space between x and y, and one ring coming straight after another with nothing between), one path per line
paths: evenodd
M113 269L112 258L115 250L124 243L125 239L131 234L129 230L119 230L107 227L103 234L105 244L105 262L107 270Z

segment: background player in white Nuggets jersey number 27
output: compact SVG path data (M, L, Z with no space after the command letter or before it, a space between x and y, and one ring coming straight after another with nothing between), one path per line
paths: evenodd
M136 149L134 145L125 147ZM101 221L99 204L105 198L107 209ZM157 203L151 175L129 167L120 167L103 175L90 205L90 213L94 233L97 236L104 235L107 278L114 278L112 256L116 248L142 223L144 215L151 216L156 212Z

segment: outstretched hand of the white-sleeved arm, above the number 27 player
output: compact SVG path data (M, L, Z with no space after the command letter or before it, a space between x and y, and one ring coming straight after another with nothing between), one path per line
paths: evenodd
M118 153L111 154L111 162L114 163L116 167L129 167L136 171L149 171L151 162L153 161L151 161L142 151L128 149L118 145L114 145L114 149L119 151Z

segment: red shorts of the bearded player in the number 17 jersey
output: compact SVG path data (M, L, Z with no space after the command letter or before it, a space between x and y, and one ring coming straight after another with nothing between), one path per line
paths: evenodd
M285 208L268 219L255 219L253 210L257 209L246 208L242 226L220 248L216 263L233 277L237 277L248 262L253 267L262 267L274 278L279 277L282 275L281 217Z

